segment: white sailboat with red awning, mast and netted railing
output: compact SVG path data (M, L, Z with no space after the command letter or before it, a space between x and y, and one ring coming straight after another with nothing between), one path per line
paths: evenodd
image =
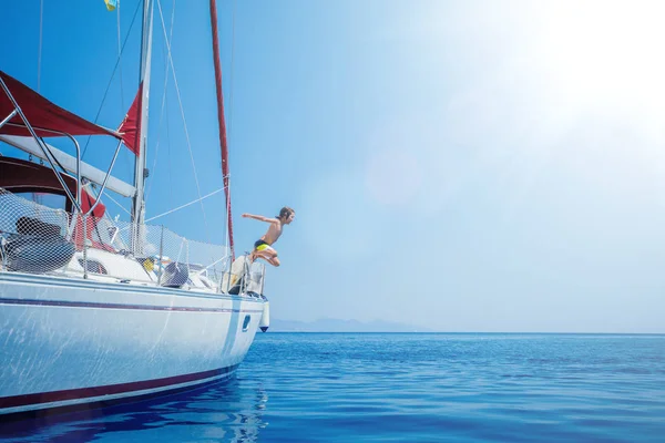
M233 250L223 102L229 246L144 222L153 9L144 0L141 82L117 130L0 71L0 141L45 162L0 156L0 420L219 382L269 326L265 268ZM214 0L211 16L216 41ZM106 172L82 162L80 136L116 142ZM71 142L75 156L52 146L52 137ZM136 154L132 184L112 175L122 146ZM106 214L108 189L132 198L130 222ZM61 207L47 205L48 197Z

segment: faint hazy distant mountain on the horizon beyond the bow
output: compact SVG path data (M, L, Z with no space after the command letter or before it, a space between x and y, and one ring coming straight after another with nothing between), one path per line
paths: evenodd
M392 321L340 320L323 318L316 321L270 319L270 332L431 332L427 328Z

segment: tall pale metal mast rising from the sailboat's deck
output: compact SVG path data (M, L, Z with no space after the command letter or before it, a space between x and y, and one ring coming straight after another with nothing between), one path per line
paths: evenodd
M134 187L136 194L132 203L132 222L134 226L140 228L135 231L133 238L134 253L141 253L137 250L137 246L142 245L141 231L143 220L145 219L145 202L143 200L143 189L145 178L147 177L147 169L145 168L145 147L147 145L147 109L149 109L149 95L150 95L150 70L152 59L152 32L153 32L153 0L143 1L143 31L141 38L141 71L140 71L140 90L141 90L141 102L140 102L140 133L139 133L139 152L136 154L136 163L134 168Z

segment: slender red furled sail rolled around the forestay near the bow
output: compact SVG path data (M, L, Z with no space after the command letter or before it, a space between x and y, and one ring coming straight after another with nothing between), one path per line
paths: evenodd
M228 190L228 144L226 143L226 122L224 121L224 95L222 94L222 63L219 63L219 38L217 37L217 3L211 0L211 25L213 28L213 58L215 62L215 87L217 90L217 120L219 126L219 146L222 147L222 174L226 195L226 217L228 219L228 246L231 259L235 260L233 245L233 219L231 218L231 193Z

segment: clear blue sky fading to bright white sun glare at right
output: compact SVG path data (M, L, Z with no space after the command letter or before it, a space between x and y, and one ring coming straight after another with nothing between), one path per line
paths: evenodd
M94 120L116 14L44 3L40 92ZM218 3L237 249L266 227L242 213L297 210L268 269L275 317L665 332L659 2ZM136 6L121 1L121 39ZM3 10L1 69L37 87L39 2ZM207 14L176 2L172 43L202 194L222 183ZM135 23L100 124L134 96L139 40ZM161 116L163 42L157 11L149 217L197 196L172 78ZM92 141L85 159L105 166L112 147ZM115 175L132 171L123 152ZM204 207L163 223L222 241L222 194Z

